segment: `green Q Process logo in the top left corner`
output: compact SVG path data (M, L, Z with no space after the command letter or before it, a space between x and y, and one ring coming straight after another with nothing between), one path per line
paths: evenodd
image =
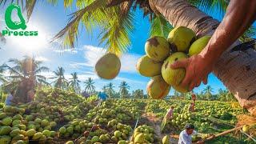
M12 12L17 10L17 16L19 22L12 20ZM3 36L38 36L38 31L26 31L26 21L22 16L21 7L18 5L11 4L6 9L5 14L6 30L2 30Z

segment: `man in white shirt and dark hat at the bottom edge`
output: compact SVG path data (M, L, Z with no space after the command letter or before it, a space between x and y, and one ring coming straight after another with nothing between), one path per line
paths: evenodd
M186 124L185 130L183 130L178 137L178 144L191 144L192 143L192 137L191 135L197 134L197 132L194 130L194 125L192 124ZM202 141L199 141L197 143L203 143Z

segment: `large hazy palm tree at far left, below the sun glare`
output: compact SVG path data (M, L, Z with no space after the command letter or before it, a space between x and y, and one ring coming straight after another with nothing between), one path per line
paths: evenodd
M6 76L2 88L4 90L16 90L14 96L19 99L20 102L26 102L27 92L34 90L35 86L39 83L46 83L46 77L40 73L48 71L46 66L41 66L42 62L25 56L22 60L16 58L10 59L8 62L12 64L4 63L1 66L2 70L7 70L10 75Z

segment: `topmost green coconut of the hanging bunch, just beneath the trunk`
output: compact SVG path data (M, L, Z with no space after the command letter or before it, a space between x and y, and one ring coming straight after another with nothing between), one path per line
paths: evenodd
M171 30L167 41L170 42L171 49L179 52L187 52L196 35L193 30L185 26L175 27Z

